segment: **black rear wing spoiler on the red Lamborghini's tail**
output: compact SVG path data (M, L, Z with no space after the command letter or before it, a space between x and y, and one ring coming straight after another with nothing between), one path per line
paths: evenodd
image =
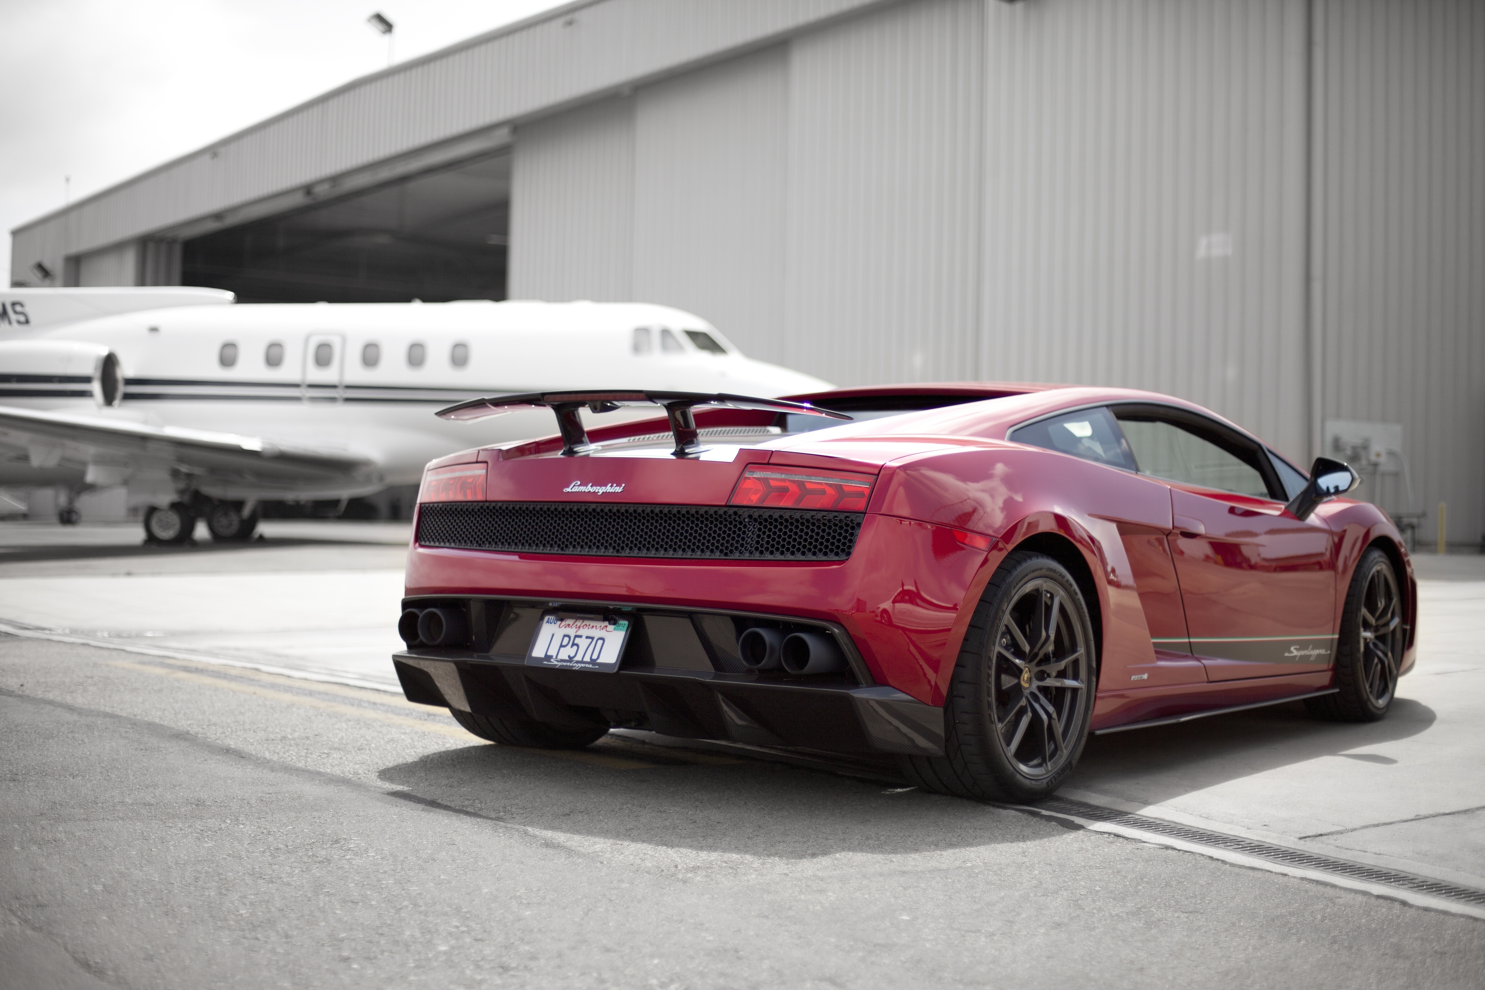
M705 392L642 392L634 389L497 395L450 405L446 410L438 410L438 417L446 420L483 420L517 410L548 408L557 414L563 457L575 457L593 450L593 444L588 442L588 430L582 426L581 411L585 407L590 413L612 413L636 405L659 405L665 408L665 419L670 420L670 432L676 438L676 450L671 451L674 457L695 457L701 453L701 441L696 438L696 417L692 414L692 410L698 405L716 405L729 410L763 410L771 413L803 413L805 416L824 416L835 420L851 419L845 413L821 410L809 402L759 399L720 392L708 395Z

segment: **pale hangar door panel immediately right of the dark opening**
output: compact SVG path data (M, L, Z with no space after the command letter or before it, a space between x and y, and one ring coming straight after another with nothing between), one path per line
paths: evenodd
M511 243L511 298L631 298L634 99L606 99L517 131Z

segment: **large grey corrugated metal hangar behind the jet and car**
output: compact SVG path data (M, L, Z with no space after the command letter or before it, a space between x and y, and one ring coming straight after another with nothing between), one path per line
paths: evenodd
M12 281L649 300L841 383L1149 387L1476 543L1482 177L1476 0L582 0L28 223Z

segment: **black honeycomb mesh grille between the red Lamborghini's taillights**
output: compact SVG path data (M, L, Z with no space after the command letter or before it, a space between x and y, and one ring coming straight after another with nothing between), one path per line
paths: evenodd
M423 546L582 557L839 561L860 531L860 512L691 505L431 502L417 517Z

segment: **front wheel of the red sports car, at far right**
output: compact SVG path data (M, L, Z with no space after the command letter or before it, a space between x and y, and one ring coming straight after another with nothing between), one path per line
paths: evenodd
M1305 701L1328 721L1378 721L1397 695L1397 669L1406 644L1397 571L1375 546L1362 554L1341 612L1335 646L1338 690Z

